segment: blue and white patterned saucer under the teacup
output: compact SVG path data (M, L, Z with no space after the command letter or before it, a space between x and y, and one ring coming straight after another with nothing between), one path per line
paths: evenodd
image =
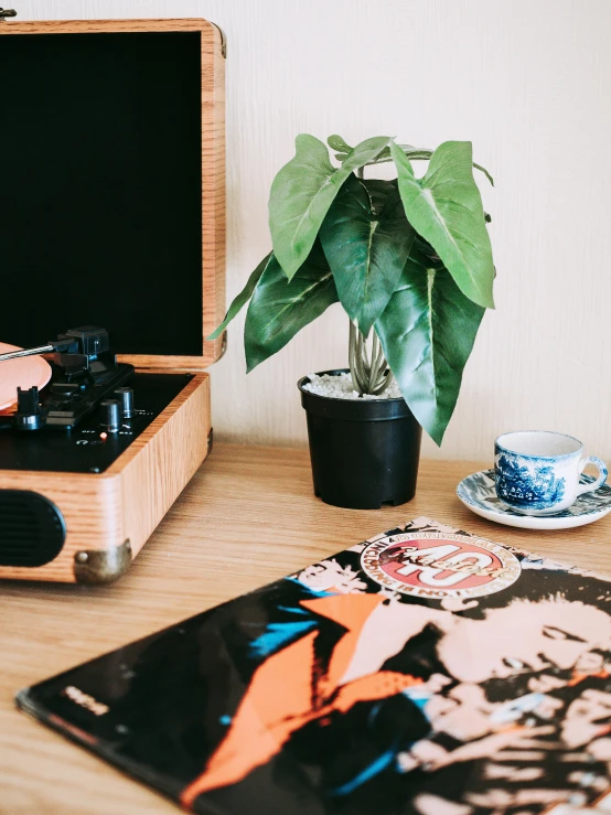
M594 479L590 475L580 478L581 484L591 484L592 481ZM475 515L521 529L571 529L574 526L593 524L611 512L611 486L603 484L596 492L580 495L572 506L557 515L521 515L496 496L494 470L468 475L457 486L457 495Z

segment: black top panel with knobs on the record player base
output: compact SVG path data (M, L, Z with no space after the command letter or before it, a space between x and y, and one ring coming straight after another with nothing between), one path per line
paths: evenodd
M49 422L31 432L0 420L0 470L103 473L192 379L193 374L131 373L76 426Z

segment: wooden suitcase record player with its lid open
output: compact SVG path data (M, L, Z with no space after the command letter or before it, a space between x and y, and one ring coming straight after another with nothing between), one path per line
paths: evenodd
M51 374L0 404L0 578L116 579L208 452L224 57L204 20L0 22L0 341Z

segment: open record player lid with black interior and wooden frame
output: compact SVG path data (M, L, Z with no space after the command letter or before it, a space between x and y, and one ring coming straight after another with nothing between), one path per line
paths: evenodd
M225 311L221 31L105 20L0 35L0 341L101 325L139 368L206 368Z

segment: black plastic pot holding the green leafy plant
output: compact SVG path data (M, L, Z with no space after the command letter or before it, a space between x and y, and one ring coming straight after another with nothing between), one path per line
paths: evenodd
M405 400L332 399L304 390L309 382L304 376L298 387L308 415L314 494L350 510L410 501L422 428Z

